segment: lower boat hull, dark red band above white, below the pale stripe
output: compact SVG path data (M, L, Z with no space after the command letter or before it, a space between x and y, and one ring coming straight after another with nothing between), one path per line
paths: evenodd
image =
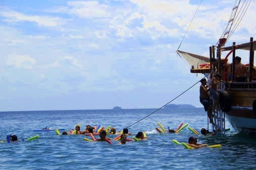
M238 133L256 135L256 117L252 109L231 109L225 116Z

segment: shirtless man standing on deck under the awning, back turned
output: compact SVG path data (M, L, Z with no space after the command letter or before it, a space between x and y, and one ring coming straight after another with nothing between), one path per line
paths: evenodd
M235 57L235 81L246 82L248 70L244 64L241 63L241 57Z

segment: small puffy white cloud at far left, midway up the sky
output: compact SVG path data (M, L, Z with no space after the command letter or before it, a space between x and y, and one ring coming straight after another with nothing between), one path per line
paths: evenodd
M36 60L29 55L12 54L7 57L6 65L15 68L33 69Z

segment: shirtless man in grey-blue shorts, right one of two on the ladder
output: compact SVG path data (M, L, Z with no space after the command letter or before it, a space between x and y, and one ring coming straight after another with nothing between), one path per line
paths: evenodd
M220 110L219 107L219 94L217 93L217 84L219 82L223 82L221 80L222 76L220 74L216 74L214 78L211 80L211 89L210 89L210 94L212 95L213 99L215 100L214 105L212 107L212 112L217 113L215 111L215 107L217 106L217 111Z

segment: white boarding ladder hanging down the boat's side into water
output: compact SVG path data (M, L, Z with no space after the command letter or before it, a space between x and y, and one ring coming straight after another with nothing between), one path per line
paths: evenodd
M210 87L210 85L211 84L209 84L209 87ZM220 94L220 91L224 91L224 90L225 90L225 83L224 82L218 83L217 84L217 93ZM209 96L210 96L211 104L214 105L215 100L213 99L211 94L209 94ZM220 110L217 113L212 112L212 115L214 115L213 121L215 124L215 126L211 124L212 131L214 131L214 130L217 131L217 128L220 128L221 131L219 131L217 134L220 134L221 136L225 136L225 112ZM208 130L209 130L209 120L207 122L208 122Z

